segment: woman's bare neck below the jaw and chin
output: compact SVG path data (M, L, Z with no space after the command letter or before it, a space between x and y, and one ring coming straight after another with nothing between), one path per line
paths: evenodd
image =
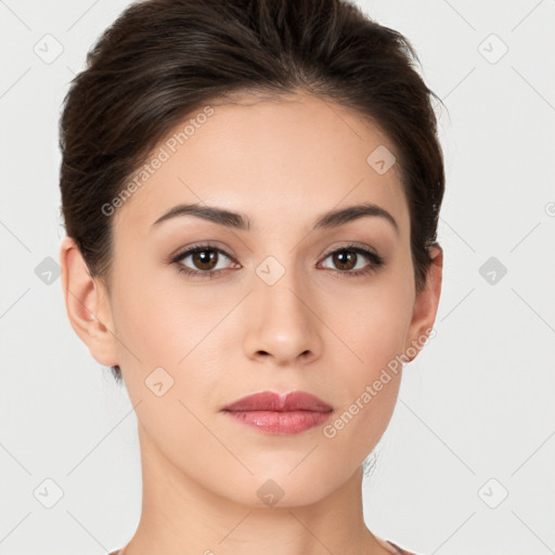
M362 467L309 505L249 506L216 494L169 462L139 426L142 512L121 555L377 555L391 553L366 528Z

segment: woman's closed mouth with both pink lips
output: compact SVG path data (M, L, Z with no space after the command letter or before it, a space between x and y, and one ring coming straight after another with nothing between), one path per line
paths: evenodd
M334 409L306 391L262 391L244 397L223 409L240 424L274 435L299 434L326 422Z

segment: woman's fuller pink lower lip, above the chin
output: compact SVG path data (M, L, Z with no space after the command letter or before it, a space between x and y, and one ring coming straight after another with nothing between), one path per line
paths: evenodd
M281 436L300 434L322 425L333 411L225 411L233 420L258 428L268 434Z

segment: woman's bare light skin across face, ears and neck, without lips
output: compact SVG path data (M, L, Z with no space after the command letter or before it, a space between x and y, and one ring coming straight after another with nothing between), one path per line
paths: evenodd
M61 247L72 326L100 364L119 364L135 405L143 506L125 555L395 553L364 524L361 465L388 426L401 372L333 438L323 426L264 434L221 409L257 391L305 390L334 408L333 422L431 328L441 248L416 295L398 165L378 175L366 163L395 146L359 114L302 93L210 105L215 114L112 216L109 289L72 238ZM362 202L399 231L375 216L312 230L328 210ZM244 214L250 228L193 216L153 227L182 203ZM179 273L206 268L192 256L167 262L206 241L229 256L218 255L220 274ZM328 253L350 242L385 264L346 275L348 263ZM256 272L268 256L285 270L273 285ZM358 255L357 269L371 263ZM159 366L173 379L162 397L145 385ZM269 479L283 490L273 506L257 495Z

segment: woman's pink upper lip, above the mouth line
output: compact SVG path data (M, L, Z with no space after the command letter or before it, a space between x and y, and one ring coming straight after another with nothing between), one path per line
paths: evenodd
M276 393L274 391L261 391L238 399L228 404L224 411L314 411L328 412L333 408L319 397L306 391L291 391Z

